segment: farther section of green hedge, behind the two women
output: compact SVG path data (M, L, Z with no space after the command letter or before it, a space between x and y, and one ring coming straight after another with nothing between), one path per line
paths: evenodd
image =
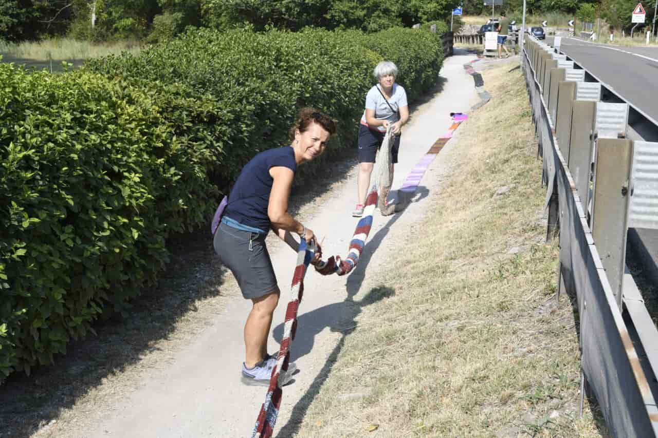
M355 143L356 124L382 59L395 62L411 99L434 85L442 62L440 39L429 32L393 28L375 34L304 30L253 33L197 30L136 56L92 60L87 68L130 82L185 84L209 94L230 112L215 141L226 148L218 172L234 180L255 153L286 144L299 107L320 107L338 119L330 153L300 168L300 181L326 158ZM140 83L141 84L141 83Z

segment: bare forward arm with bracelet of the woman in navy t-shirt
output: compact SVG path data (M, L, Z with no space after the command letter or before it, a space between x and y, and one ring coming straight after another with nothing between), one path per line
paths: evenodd
M294 172L285 166L274 166L270 168L270 175L274 178L274 183L270 191L270 202L267 205L267 216L270 218L272 228L297 234L303 233L304 239L310 241L315 237L313 231L295 220L288 212L288 197L290 197Z

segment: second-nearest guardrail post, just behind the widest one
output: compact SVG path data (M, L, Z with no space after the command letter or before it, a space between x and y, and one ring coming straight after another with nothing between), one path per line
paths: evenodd
M595 102L574 101L569 134L569 158L565 158L569 163L571 176L585 212L587 212L590 196L590 168L595 117Z

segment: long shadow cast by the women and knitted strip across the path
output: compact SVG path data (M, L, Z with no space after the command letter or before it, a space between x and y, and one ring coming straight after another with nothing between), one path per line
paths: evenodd
M427 187L419 185L414 196L411 198L410 203L417 203L418 201L425 199L429 193L430 191ZM347 298L345 301L342 303L328 304L299 316L297 337L295 337L295 341L291 347L291 360L295 360L309 353L311 349L313 349L315 335L320 333L320 331L326 327L329 327L332 331L342 333L342 337L338 341L336 347L334 347L332 353L328 356L327 361L320 372L318 372L315 379L313 379L311 387L309 387L295 406L293 406L290 420L281 427L276 435L278 438L291 437L299 431L299 425L303 421L311 402L313 402L320 392L320 388L324 385L324 381L329 377L334 362L336 362L338 354L340 354L343 345L345 345L347 335L357 328L356 318L361 313L361 309L368 304L376 303L381 299L395 295L395 291L390 287L380 286L370 289L361 301L354 300L354 297L361 290L363 280L365 279L365 272L370 260L372 259L372 255L377 251L386 235L388 235L391 227L399 220L405 211L406 208L405 210L396 213L395 216L393 216L393 218L391 218L388 223L377 231L377 233L372 236L372 239L366 243L363 254L361 255L361 258L359 258L359 264L357 264L356 268L351 274L349 274L349 278L347 278ZM378 210L375 214L377 217ZM378 218L381 217L382 216L378 216ZM338 327L334 324L338 324ZM274 328L274 339L276 339L277 342L281 341L282 333L283 324L279 324Z

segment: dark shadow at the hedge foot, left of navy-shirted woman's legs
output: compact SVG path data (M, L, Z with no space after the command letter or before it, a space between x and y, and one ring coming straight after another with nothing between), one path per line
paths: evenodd
M158 342L170 339L180 320L197 312L198 301L223 295L220 286L226 270L214 256L207 230L172 237L168 247L172 255L159 283L143 289L128 316L115 314L96 322L97 335L72 341L66 355L55 356L55 364L34 367L29 377L18 372L9 376L0 387L1 436L31 436L107 379L138 364L147 354L167 349L166 343ZM203 327L196 320L184 324ZM168 358L170 352L163 354ZM105 391L114 391L115 385L110 380L111 388ZM103 397L93 402L103 402Z

